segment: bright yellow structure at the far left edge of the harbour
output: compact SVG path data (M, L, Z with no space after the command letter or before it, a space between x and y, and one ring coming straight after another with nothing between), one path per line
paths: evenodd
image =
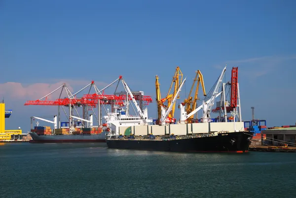
M5 103L0 103L0 141L19 139L22 130L5 130Z

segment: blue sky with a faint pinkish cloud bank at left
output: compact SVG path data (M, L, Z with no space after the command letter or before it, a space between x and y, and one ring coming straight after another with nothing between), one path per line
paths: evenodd
M152 97L156 118L155 75L164 97L179 66L184 99L196 70L209 91L226 64L227 80L238 67L243 120L255 107L267 126L294 125L295 9L294 0L0 0L0 98L13 110L6 129L51 119L57 107L24 103L62 83L75 92L119 75Z

